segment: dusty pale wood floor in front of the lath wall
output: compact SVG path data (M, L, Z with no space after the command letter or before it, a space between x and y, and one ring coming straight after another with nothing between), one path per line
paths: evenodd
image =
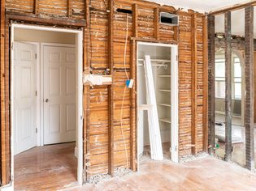
M256 174L207 156L188 163L141 163L138 173L73 190L256 190Z

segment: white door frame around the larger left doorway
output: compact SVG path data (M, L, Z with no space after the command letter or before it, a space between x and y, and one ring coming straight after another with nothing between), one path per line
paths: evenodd
M77 181L79 185L83 184L83 32L82 30L41 27L36 25L27 25L20 23L11 24L11 46L14 42L14 29L24 28L38 31L67 32L76 34L76 135L77 135ZM13 49L11 49L11 76L13 76ZM11 78L11 189L14 189L14 140L13 140L13 79Z

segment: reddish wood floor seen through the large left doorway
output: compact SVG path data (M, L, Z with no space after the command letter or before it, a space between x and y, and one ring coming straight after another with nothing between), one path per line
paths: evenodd
M15 155L15 190L56 190L76 185L76 143L35 147Z

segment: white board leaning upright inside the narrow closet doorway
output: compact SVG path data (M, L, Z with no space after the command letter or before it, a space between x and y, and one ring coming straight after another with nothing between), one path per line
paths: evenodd
M144 67L147 104L152 105L151 109L148 111L151 159L163 160L163 148L158 121L158 110L155 99L154 79L149 55L145 55Z

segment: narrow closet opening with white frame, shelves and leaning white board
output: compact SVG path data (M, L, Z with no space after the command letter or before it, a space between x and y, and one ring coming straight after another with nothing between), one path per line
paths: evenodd
M150 67L145 66L149 64ZM153 94L154 97L149 96ZM144 157L161 159L163 155L163 158L178 162L176 45L137 43L137 106L137 159L142 160ZM150 117L150 111L154 107L156 115L151 113ZM158 129L156 126L154 126L155 129L150 127L153 116L157 116L154 124L157 124ZM158 134L158 136L153 134ZM160 140L154 140L157 137ZM154 142L158 142L158 146L153 148ZM163 148L163 153L160 153L161 157L154 157L154 150L160 147Z

